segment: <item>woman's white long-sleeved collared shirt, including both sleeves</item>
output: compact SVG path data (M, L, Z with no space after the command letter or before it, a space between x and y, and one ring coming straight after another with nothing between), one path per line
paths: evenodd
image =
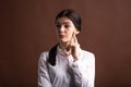
M49 51L40 54L38 61L38 87L94 87L95 57L93 53L79 50L78 61L58 47L56 65L47 62Z

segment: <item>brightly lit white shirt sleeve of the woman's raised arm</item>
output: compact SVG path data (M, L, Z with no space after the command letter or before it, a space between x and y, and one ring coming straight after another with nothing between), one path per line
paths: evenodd
M74 80L78 87L94 87L95 55L84 53L80 60L72 63Z

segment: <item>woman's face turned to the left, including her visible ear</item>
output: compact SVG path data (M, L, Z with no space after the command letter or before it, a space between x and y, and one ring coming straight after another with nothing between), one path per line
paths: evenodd
M70 42L73 33L76 35L79 30L73 22L68 17L60 17L56 22L57 36L60 42Z

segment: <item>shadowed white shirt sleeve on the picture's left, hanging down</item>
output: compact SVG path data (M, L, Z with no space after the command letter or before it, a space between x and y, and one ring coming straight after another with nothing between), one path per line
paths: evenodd
M44 52L40 54L40 58L38 60L38 87L52 87L46 64L46 59L47 54Z

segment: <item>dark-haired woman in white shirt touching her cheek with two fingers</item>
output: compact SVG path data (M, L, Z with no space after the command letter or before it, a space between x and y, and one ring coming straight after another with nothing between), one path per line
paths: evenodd
M80 15L63 10L55 25L59 44L40 54L38 87L94 87L95 57L82 50L76 38L81 33Z

